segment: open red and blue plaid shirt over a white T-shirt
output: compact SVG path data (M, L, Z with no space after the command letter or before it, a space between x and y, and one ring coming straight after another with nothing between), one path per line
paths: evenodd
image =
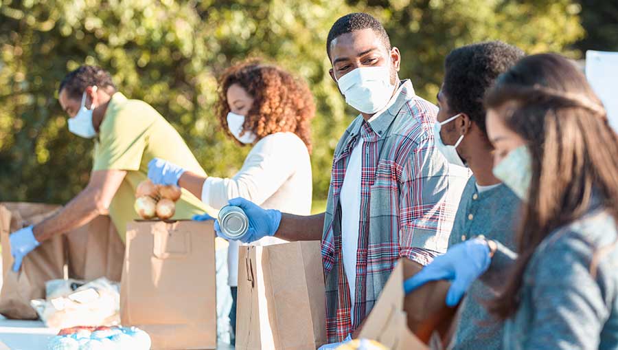
M358 116L334 152L321 245L329 342L342 341L369 314L400 257L426 265L446 251L453 227L457 204L447 200L449 166L433 142L437 108L417 97L409 80L393 98L369 122ZM351 310L339 195L358 138L363 138L361 222Z

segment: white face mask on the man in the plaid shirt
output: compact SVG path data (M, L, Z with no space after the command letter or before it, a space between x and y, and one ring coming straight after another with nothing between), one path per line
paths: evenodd
M367 114L384 108L395 89L389 67L356 68L339 78L337 85L348 105Z

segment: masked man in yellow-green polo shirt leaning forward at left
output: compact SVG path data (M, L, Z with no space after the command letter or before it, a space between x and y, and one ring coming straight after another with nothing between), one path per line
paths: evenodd
M10 235L16 271L23 257L43 241L78 228L99 215L111 217L124 241L126 224L138 219L133 208L135 188L147 179L148 162L152 158L170 160L206 175L174 127L146 102L129 100L117 91L111 75L104 69L83 65L65 76L58 91L60 106L70 117L69 131L82 138L95 139L93 169L86 188L56 215ZM212 212L212 209L183 190L172 219L191 219L204 211ZM221 242L217 243L218 248L223 248ZM222 259L220 251L225 250L218 249L218 261ZM227 279L227 270L219 266L217 274L226 274Z

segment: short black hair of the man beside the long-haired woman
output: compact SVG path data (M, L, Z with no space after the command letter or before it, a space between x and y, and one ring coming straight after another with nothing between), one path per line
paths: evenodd
M483 97L496 78L525 56L518 47L502 41L485 41L458 47L444 60L444 83L448 107L466 113L481 131L485 128Z

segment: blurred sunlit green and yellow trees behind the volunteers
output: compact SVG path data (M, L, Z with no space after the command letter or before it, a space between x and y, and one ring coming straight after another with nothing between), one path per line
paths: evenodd
M84 63L170 120L207 173L232 175L248 148L214 120L216 80L256 56L310 84L314 199L323 199L355 115L328 75L325 38L358 11L382 20L403 55L400 76L432 101L444 56L459 45L501 39L573 58L585 49L575 45L586 38L582 3L570 0L0 0L0 201L64 203L87 183L92 141L69 133L56 100L62 77Z

